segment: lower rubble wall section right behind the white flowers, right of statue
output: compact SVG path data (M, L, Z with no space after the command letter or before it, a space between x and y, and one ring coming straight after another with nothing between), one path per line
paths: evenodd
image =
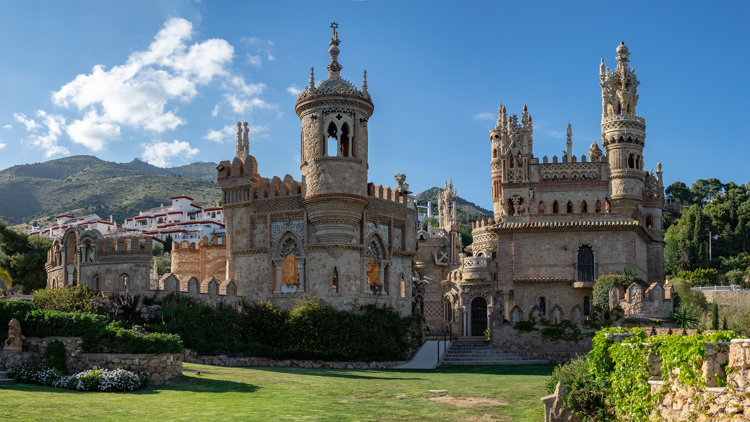
M182 354L138 354L138 353L82 353L73 364L73 372L83 372L94 366L102 369L125 369L139 374L148 373L148 384L161 384L182 375Z

